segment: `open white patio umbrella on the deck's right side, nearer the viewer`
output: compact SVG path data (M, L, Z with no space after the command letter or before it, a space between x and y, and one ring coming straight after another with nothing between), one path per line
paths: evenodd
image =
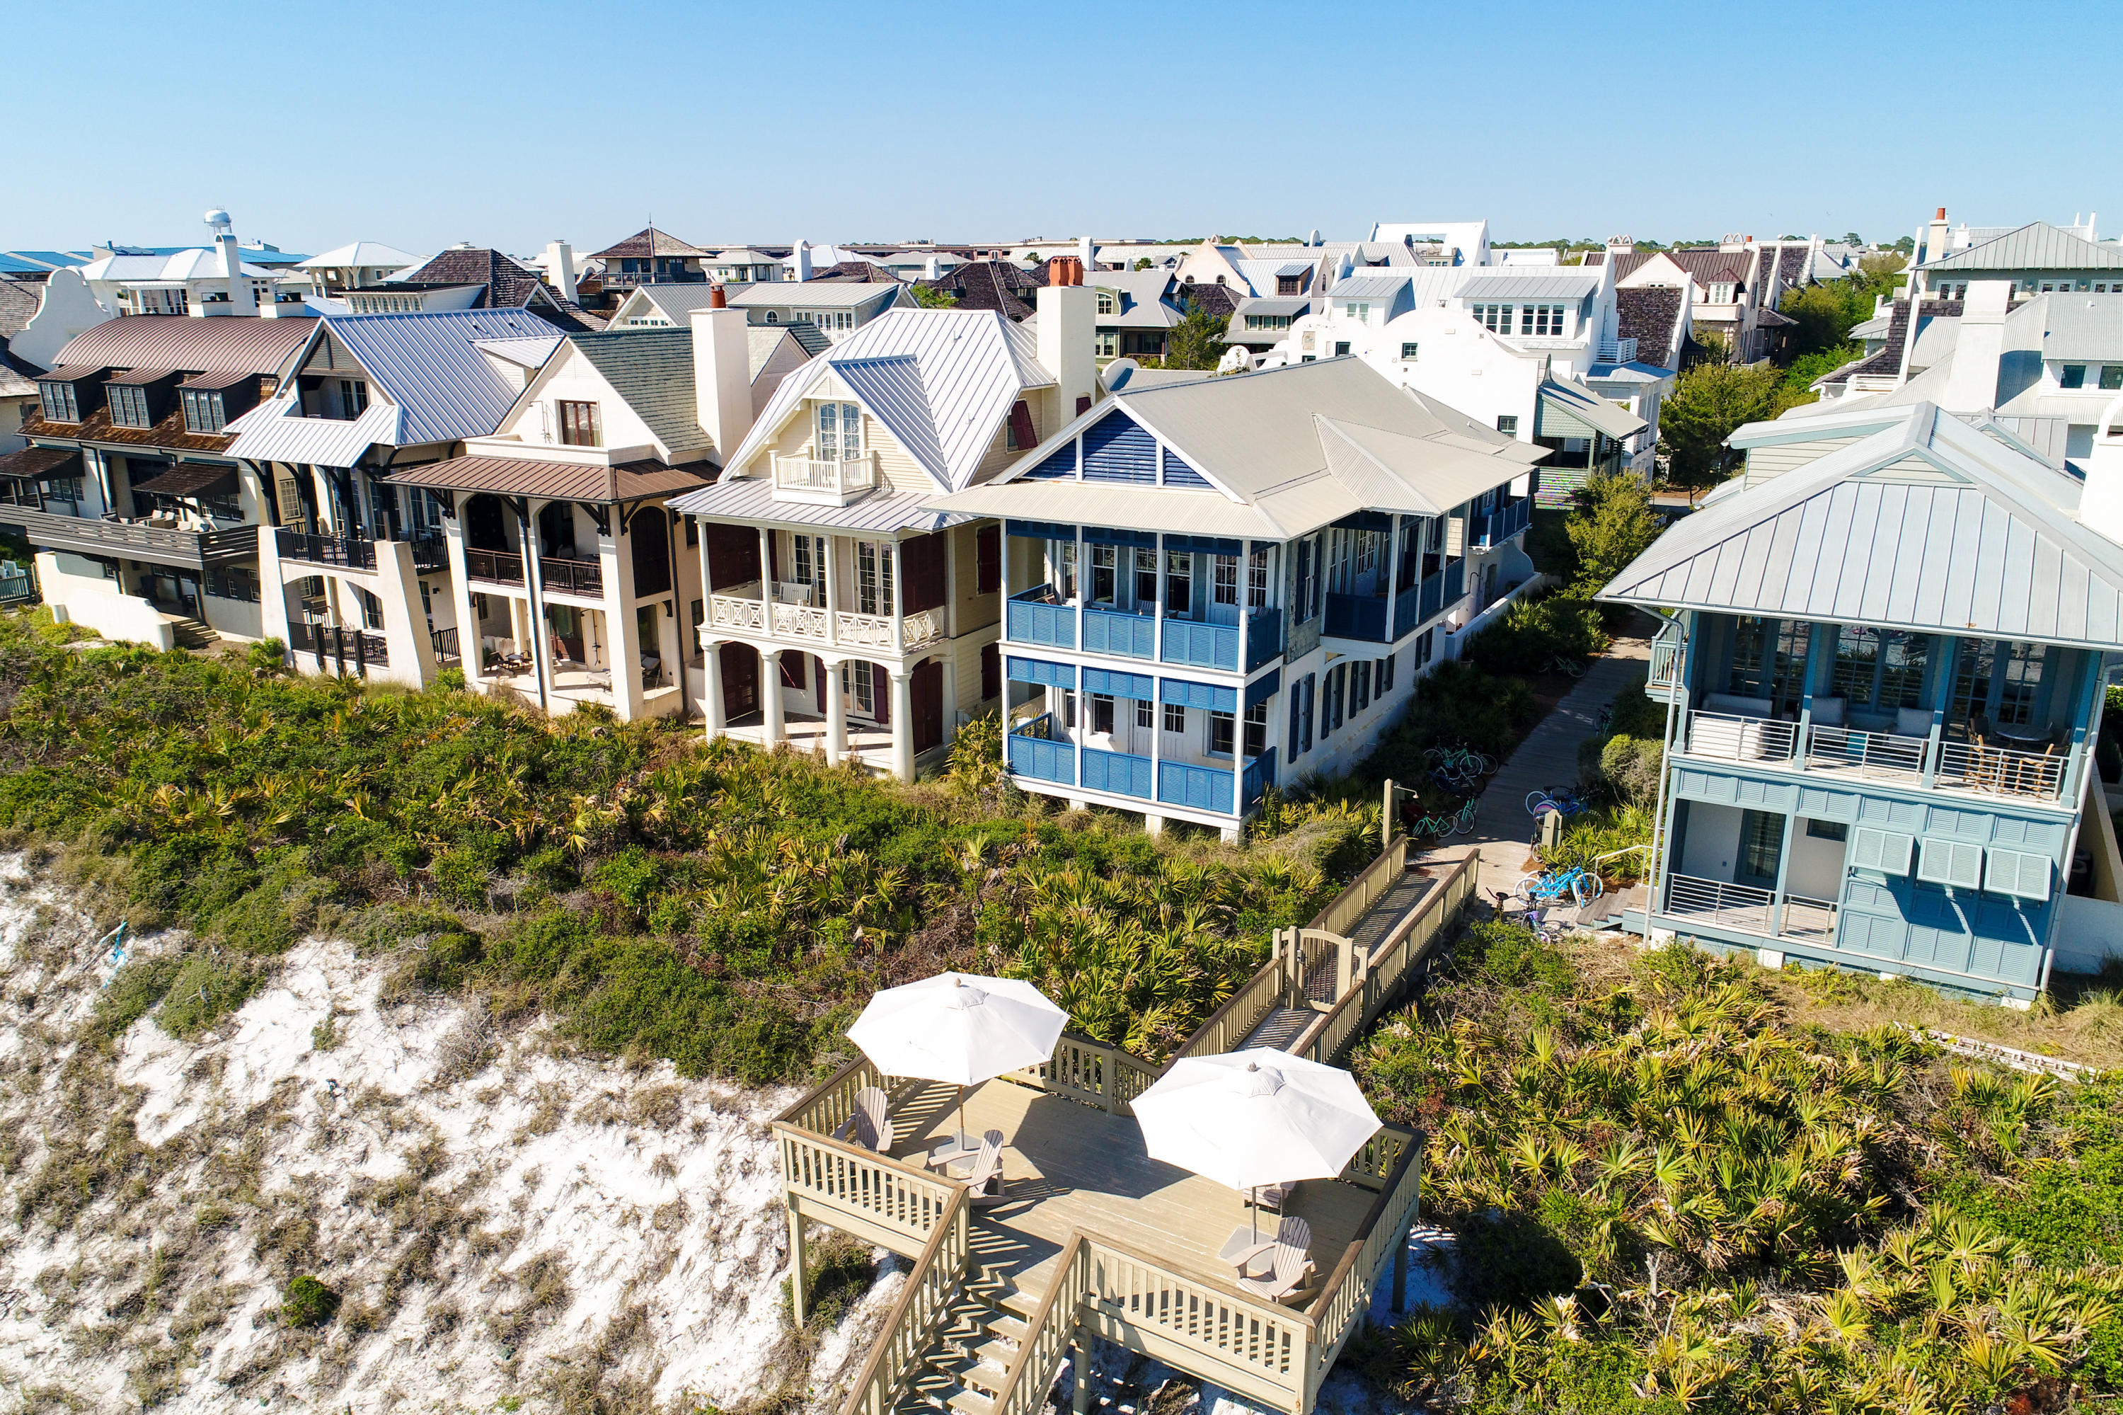
M1267 1047L1178 1060L1129 1107L1153 1160L1248 1194L1333 1179L1380 1130L1348 1071Z

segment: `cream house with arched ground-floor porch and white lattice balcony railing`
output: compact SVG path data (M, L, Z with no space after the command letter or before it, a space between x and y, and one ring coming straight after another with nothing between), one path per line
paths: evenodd
M936 501L1091 408L1093 323L1081 285L1038 293L1036 331L887 310L781 380L722 480L673 499L701 527L711 735L913 780L1000 705L1000 527Z

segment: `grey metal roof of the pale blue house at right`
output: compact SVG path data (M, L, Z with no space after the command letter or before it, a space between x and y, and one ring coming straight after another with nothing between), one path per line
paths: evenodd
M1917 404L1684 518L1601 597L2115 648L2123 546L2078 525L2076 497L2076 478Z

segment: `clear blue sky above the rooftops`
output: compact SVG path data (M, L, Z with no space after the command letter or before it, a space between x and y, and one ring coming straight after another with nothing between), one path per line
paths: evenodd
M1892 240L1940 202L1977 225L2095 208L2108 234L2117 15L117 2L23 36L0 249L195 242L208 206L310 253L594 251L650 212L703 244L1471 217L1499 240Z

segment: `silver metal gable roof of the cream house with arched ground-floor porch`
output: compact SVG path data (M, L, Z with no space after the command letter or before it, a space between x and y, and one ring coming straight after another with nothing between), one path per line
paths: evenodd
M885 310L792 370L724 465L743 474L826 376L839 376L943 491L970 482L1025 389L1055 382L1032 331L996 310Z

